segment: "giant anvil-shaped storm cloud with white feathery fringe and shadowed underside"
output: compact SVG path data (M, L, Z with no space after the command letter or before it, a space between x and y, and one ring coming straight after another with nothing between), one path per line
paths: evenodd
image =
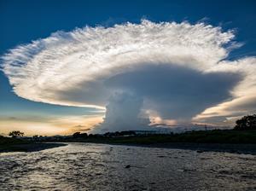
M145 114L159 123L224 123L256 110L256 58L227 60L241 46L233 38L204 23L86 26L10 49L3 72L15 94L32 101L116 108L105 127L137 125ZM124 122L122 113L136 114Z

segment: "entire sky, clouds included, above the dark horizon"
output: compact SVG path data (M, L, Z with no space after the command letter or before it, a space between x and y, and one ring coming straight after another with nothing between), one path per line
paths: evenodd
M232 125L256 110L255 18L254 1L1 1L1 133Z

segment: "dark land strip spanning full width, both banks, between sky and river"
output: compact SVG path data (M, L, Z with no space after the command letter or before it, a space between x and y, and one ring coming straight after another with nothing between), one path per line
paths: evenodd
M201 130L168 135L86 135L82 137L63 136L63 138L49 136L49 139L46 137L46 140L41 142L39 140L26 141L2 136L0 137L0 152L32 152L65 145L59 142L90 142L151 148L177 148L196 150L198 153L216 151L256 154L256 130Z

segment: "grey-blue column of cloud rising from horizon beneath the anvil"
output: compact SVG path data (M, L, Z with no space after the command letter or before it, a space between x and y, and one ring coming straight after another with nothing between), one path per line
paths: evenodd
M142 107L142 97L131 92L114 93L108 100L104 121L96 125L93 132L147 129L150 121L143 116Z

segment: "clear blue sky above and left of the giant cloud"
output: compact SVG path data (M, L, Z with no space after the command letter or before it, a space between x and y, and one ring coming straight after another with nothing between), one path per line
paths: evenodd
M223 31L235 30L237 42L228 59L237 60L256 55L255 1L0 1L0 54L20 44L47 38L52 32L69 32L84 26L113 26L126 21L140 23L203 21L221 26ZM0 72L0 118L30 120L35 116L95 115L96 109L65 107L29 101L18 97L9 80ZM101 113L102 114L102 113ZM234 116L233 116L234 117ZM44 119L42 119L44 121ZM46 123L46 122L45 122ZM77 124L79 125L79 124ZM1 128L1 127L0 127ZM8 127L7 127L8 128ZM14 126L9 129L15 128Z

